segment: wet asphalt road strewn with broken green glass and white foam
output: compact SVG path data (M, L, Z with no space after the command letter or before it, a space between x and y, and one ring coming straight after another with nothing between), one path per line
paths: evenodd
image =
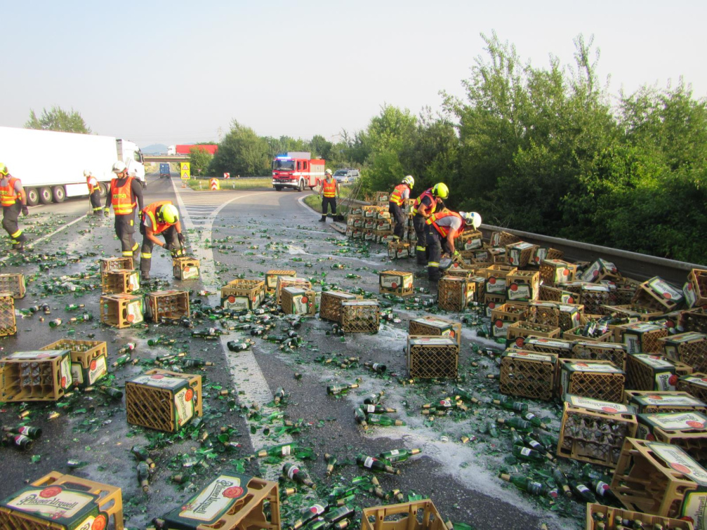
M175 190L177 193L175 194ZM151 201L171 199L180 206L185 223L187 242L191 254L201 259L202 278L199 281L175 281L172 278L171 259L156 248L153 251L152 276L168 281L173 288L191 288L196 293L206 289L216 291L221 285L245 274L246 278L258 278L269 269L296 269L300 277L325 278L327 283L338 283L341 288L363 288L378 292L377 271L397 268L416 270L413 261L390 264L385 250L374 245L370 253L358 252L346 246L344 236L329 225L317 223L318 215L303 206L298 199L304 194L296 192L274 192L258 189L246 192L192 192L181 189L179 181L148 178L146 204ZM112 218L94 220L81 218L88 206L83 199L69 200L64 204L37 206L30 209L30 217L21 218L33 240L38 242L31 255L66 252L95 252L105 256L119 255L119 243L112 233ZM59 225L78 222L52 234ZM30 233L33 232L33 233ZM138 235L138 237L140 237ZM211 248L211 247L216 248ZM221 246L222 248L218 248ZM2 252L6 247L1 248ZM342 252L346 251L346 252ZM293 261L301 258L302 261ZM40 322L33 317L18 319L18 334L0 338L3 353L38 349L59 338L69 336L74 329L74 338L86 338L108 343L109 362L117 358L117 349L129 341L137 343L134 358L151 360L157 355L188 351L189 357L201 358L214 363L201 370L204 376L205 393L204 423L199 431L209 432L209 440L223 450L216 440L220 428L230 425L230 440L242 447L227 452L216 452L215 458L206 458L194 467L185 467L185 457L200 456L204 446L197 439L156 435L153 431L127 425L124 401L112 401L100 393L74 393L54 403L29 404L30 424L41 427L44 434L35 447L20 452L12 447L0 449L0 498L20 489L28 481L35 480L49 471L73 473L98 482L118 485L122 488L124 512L127 526L144 528L152 517L160 516L177 507L191 493L183 485L170 481L173 473L191 473L189 489L200 488L211 481L218 471L234 470L236 464L245 466L245 473L276 478L281 464L265 464L263 461L244 461L243 457L257 449L277 442L289 440L287 435L274 441L273 432L279 422L247 420L238 405L258 404L263 416L271 411L284 411L286 418L303 418L307 428L293 435L300 445L312 447L319 457L300 464L315 479L317 492L304 490L305 497L294 497L291 505L311 504L315 500L326 500L334 485L350 483L354 476L366 475L366 471L354 465L337 468L331 478L325 477L324 453L335 454L346 463L362 452L375 455L395 448L420 448L421 456L399 466L402 474L380 476L386 491L399 489L407 495L411 492L431 497L445 519L466 522L483 529L537 529L542 522L550 528L580 528L575 519L557 519L554 514L532 504L518 490L496 478L498 464L505 456L498 451L493 440L479 437L477 443L461 444L460 434L465 430L464 421L440 418L429 426L419 415L419 406L431 400L431 396L444 396L449 386L414 385L402 386L395 377L374 376L361 368L341 369L335 363L315 363L320 355L334 354L339 357L356 356L361 360L385 363L388 372L404 375L406 358L403 352L407 319L421 312L400 311L403 322L385 324L377 335L351 334L342 341L337 336L328 336L331 324L318 318L308 319L300 329L307 341L294 353L283 353L275 345L256 340L251 351L230 353L225 347L227 340L239 338L238 331L221 341L204 341L191 338L189 331L177 326L150 324L148 328L112 329L98 324L100 287L81 295L47 294L42 288L45 281L56 281L62 275L90 271L96 257L83 257L76 263L40 271L35 263L12 264L15 258L4 262L4 272L23 271L28 278L28 294L16 300L16 308L26 308L36 303L48 302L51 316ZM332 269L332 264L344 264L345 269ZM345 278L347 273L356 273L361 278ZM416 280L416 285L426 285L425 280ZM320 287L315 287L319 290ZM204 303L218 303L217 296L199 297ZM83 303L93 312L93 322L69 326L62 324L56 329L47 325L49 319L72 316L64 310L68 303ZM208 327L209 321L195 322L196 329ZM279 326L279 330L287 329ZM279 331L278 331L279 332ZM148 338L158 335L175 338L174 346L147 344ZM469 348L471 334L464 332L460 367L466 370L472 353ZM476 357L474 355L474 357ZM475 358L474 360L478 360ZM149 366L135 365L111 369L115 375L112 386L122 388L124 382L147 370ZM295 372L303 377L295 379ZM334 399L327 396L327 384L351 383L361 377L361 387L348 396ZM483 370L479 377L484 377ZM452 383L453 384L453 383ZM279 409L268 406L273 391L283 387L290 394L287 406ZM233 396L218 396L218 390L230 389ZM402 427L376 427L364 432L354 421L354 408L361 401L361 394L385 390L385 405L397 408L396 418L406 420ZM432 398L432 399L433 399ZM2 425L16 425L18 414L25 406L5 404L0 409ZM59 411L59 418L47 419L49 413ZM266 434L267 429L271 431ZM197 435L194 435L196 438ZM136 478L136 461L129 452L132 445L151 447L151 457L156 461L156 472L151 476L149 493L143 493ZM85 461L87 464L71 471L66 466L69 459ZM284 485L291 485L287 481ZM379 504L373 495L358 495L353 501L357 507ZM292 507L283 507L285 517ZM289 519L288 519L289 520ZM290 521L291 522L291 521ZM358 524L358 523L356 523Z

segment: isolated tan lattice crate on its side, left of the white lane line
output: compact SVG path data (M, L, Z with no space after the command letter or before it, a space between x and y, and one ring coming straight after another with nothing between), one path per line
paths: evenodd
M148 370L125 383L127 422L177 432L202 416L201 398L201 375Z

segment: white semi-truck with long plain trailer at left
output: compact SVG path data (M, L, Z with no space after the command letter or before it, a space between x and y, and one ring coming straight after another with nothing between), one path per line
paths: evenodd
M63 202L88 195L83 170L90 170L105 195L122 160L130 175L145 185L145 166L136 143L113 136L0 127L0 162L22 181L27 203Z

